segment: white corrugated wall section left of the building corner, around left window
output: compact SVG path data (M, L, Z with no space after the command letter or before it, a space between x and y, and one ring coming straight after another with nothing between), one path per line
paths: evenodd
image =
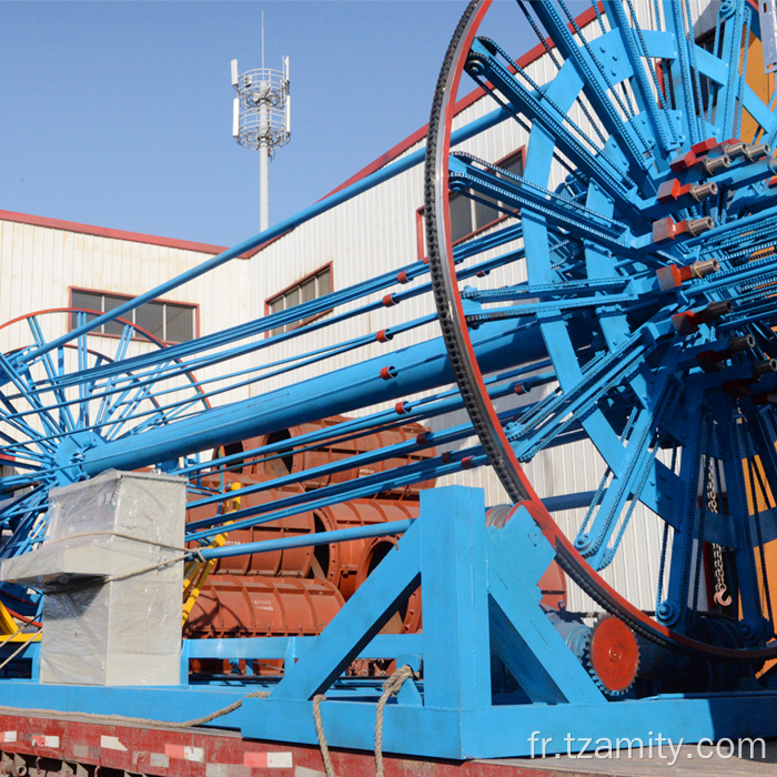
M43 226L0 220L0 323L38 311L68 307L72 287L135 296L159 283L195 266L211 254L118 238L98 236L65 228ZM206 276L181 286L165 299L198 305L201 333L212 333L248 321L253 312L250 283L251 263L234 260ZM38 316L47 341L64 334L70 326L63 313ZM27 321L0 327L0 351L8 352L33 343ZM93 354L112 357L118 339L88 336ZM155 349L147 341L133 341L127 355ZM75 353L64 352L68 370L75 369ZM244 357L242 366L249 367ZM198 372L195 380L216 379L220 367ZM160 390L185 385L186 380L160 384ZM221 385L221 384L215 384ZM191 390L190 390L191 391ZM236 389L214 397L219 404L249 395ZM182 395L171 395L170 398Z

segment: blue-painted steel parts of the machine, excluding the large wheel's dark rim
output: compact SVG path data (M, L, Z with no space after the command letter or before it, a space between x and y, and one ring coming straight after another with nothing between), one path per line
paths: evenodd
M522 85L511 68L522 77L525 73L498 46L487 40L474 41L468 67L477 79L488 81L490 90L498 90L504 102L451 137L452 144L460 143L506 118L527 119L533 125L525 178L505 175L495 165L467 154L454 154L448 160L446 186L465 189L474 199L493 198L496 193L500 202L509 203L523 213L521 224L480 236L457 246L453 254L460 268L457 281L486 275L518 260L525 260L528 265L529 282L525 284L462 292L474 356L480 370L488 374L485 395L488 400L502 398L534 385L557 383L556 394L498 416L514 456L528 460L548 445L587 436L610 465L609 487L605 487L606 475L596 491L546 502L546 506L552 504L558 509L591 504L591 514L581 527L575 547L591 561L592 571L612 562L634 505L642 501L667 526L677 529L669 561L669 592L666 601L658 603L658 619L668 625L679 624L680 636L692 629L697 603L693 607L677 605L674 609L669 605L687 603L689 593L698 592L698 561L696 579L692 581L694 543L716 542L736 549L741 569L751 578L741 597L743 623L750 630L744 643L763 646L774 636L774 618L769 612L767 622L757 601L754 548L777 536L777 507L751 516L743 485L745 477L737 467L743 460L751 461L750 446L755 444L767 481L777 483L774 453L777 423L769 406L774 403L769 396L777 395L777 361L773 365L767 359L775 347L775 336L769 330L775 310L771 302L765 305L763 301L764 286L777 279L777 260L771 251L777 229L777 193L771 185L775 163L766 152L751 159L739 149L729 165L718 165L715 174L705 178L707 183L730 195L725 201L720 198L696 202L688 190L667 204L658 184L672 183L675 173L670 172L669 161L675 153L680 154L707 137L716 143L731 133L738 137L745 109L756 119L768 142L777 137L777 122L745 79L726 65L726 57L710 56L687 40L677 2L663 3L667 29L650 31L645 40L638 27L632 27L620 3L608 6L610 31L598 42L602 52L612 59L606 68L587 43L577 44L557 4L563 7L549 1L534 4L566 60L553 83L543 90L529 88L531 83ZM756 22L744 3L722 9L716 38L720 37L719 48L729 61L738 61L740 33L755 29ZM643 59L652 58L663 60L672 73L676 108L657 107L653 99L653 85L642 65ZM700 78L709 82L710 100L707 107L697 110L695 98L700 99L700 88L695 94L694 84ZM617 87L626 82L632 91L624 91L622 98ZM712 121L713 92L717 94L719 112L715 122ZM606 148L595 152L581 145L576 137L581 129L566 118L574 102L582 99L581 94L618 142L607 142ZM629 117L627 120L623 120L612 100L619 103L620 112ZM652 143L647 142L648 135ZM604 137L602 140L604 143ZM574 163L576 172L551 192L543 188L543 182L547 181L556 149ZM706 151L712 163L728 153L726 147L710 145ZM341 305L361 300L355 310L371 313L427 293L431 284L424 281L412 289L392 292L381 302L367 300L395 282L404 284L421 279L427 273L423 262L407 265L398 274L387 273L292 311L250 322L240 332L218 333L171 347L161 356L125 359L132 327L122 334L121 359L117 364L102 360L90 363L85 340L92 329L417 164L423 153L410 154L110 314L91 322L82 316L80 325L65 336L47 341L38 320L31 319L34 345L0 356L2 380L11 392L2 395L0 420L32 442L20 443L7 435L0 452L18 454L19 466L29 467L32 482L50 476L59 484L95 475L110 466L133 468L161 464L190 476L200 488L201 498L193 505L215 505L231 497L202 485L206 467L190 460L191 452L450 384L454 374L445 347L441 341L431 340L205 412L195 407L203 401L199 391L163 407L154 404L163 401L165 394L154 387L161 380L254 353L333 322L347 321L354 313L337 312ZM696 155L692 167L700 164ZM680 170L678 186L696 183L698 170L698 167L697 172ZM579 175L584 176L583 184ZM704 238L687 230L675 234L672 230L679 224L673 216L678 214L683 216L682 223L697 218L704 221L713 215L717 223ZM672 224L667 225L667 219L673 220ZM656 232L655 224L663 224L672 232L670 236L660 230ZM506 253L497 259L477 259L481 253L513 245L521 239L526 250L505 249ZM464 268L463 262L473 258L475 263ZM696 260L715 260L724 270L720 274L692 278L692 262ZM689 276L678 280L682 270L688 270ZM689 282L684 286L686 281ZM706 303L731 300L737 302L737 309L724 306L713 321ZM508 306L485 306L496 302ZM293 333L261 342L258 339L239 344L284 323L304 321L330 310L335 312L325 322L312 322ZM632 331L628 315L639 310L650 310L655 316L642 322L637 315L638 324ZM325 355L370 345L375 340L383 343L433 320L434 316L424 316L377 335L354 337L302 356L283 356L258 370L233 372L231 377L240 377L243 384L258 383L281 374L289 364L310 364ZM697 333L700 333L698 337L690 336ZM731 334L746 333L757 335L757 347L748 346L753 351L749 356L738 355L740 351L726 351ZM602 342L594 345L597 334L602 335ZM78 350L79 369L68 374L62 354L71 342ZM225 350L219 351L221 347ZM648 366L659 347L668 356L658 367ZM587 349L595 353L588 351L589 361L581 364L579 354ZM713 356L705 356L709 351ZM710 359L712 369L707 369ZM725 365L718 369L719 363ZM761 372L755 372L756 364ZM48 385L32 379L31 365L46 371ZM253 374L262 370L266 374ZM537 370L545 372L537 374ZM726 384L730 390L728 396L734 396L735 390L741 390L743 396L736 395L736 402L713 396L706 405L706 418L700 412L696 417L688 414L715 392L720 394ZM210 384L193 381L192 385L200 390ZM622 393L626 385L632 393ZM748 398L749 387L767 397L765 405ZM75 396L69 391L74 391ZM678 420L674 414L680 393L686 413ZM206 395L215 394L218 390L208 389ZM44 402L43 396L53 398ZM17 410L14 402L19 397L29 402L29 410ZM624 397L633 404L636 400L636 405L626 412ZM99 405L97 414L91 412L94 402ZM144 403L154 406L141 413ZM462 406L462 397L450 391L423 400L402 400L394 411L377 411L343 424L337 434L352 438L390 428L407 418L430 418ZM33 428L30 416L38 420L42 431ZM139 420L133 433L127 433L128 423ZM744 433L740 422L747 422L755 431ZM713 428L722 431L714 435ZM349 461L347 468L424 446L462 441L472 433L473 424L462 424L423 440L355 456ZM674 472L674 464L669 468L657 461L665 433L675 440L676 446L684 448L679 473ZM320 433L310 433L296 443L314 447L323 438ZM269 443L250 454L270 461L284 455L284 450L283 444ZM221 456L216 465L229 470L245 455L244 452ZM181 462L181 456L185 461ZM724 462L725 480L733 485L730 515L705 514L705 508L697 506L700 464L712 460ZM477 466L487 461L484 447L474 445L447 457L395 467L353 483L290 496L272 505L238 509L229 514L229 521L231 528L248 527L301 509L457 472L465 463ZM343 468L346 464L336 462L307 471L306 476L335 474ZM19 487L29 484L30 477L4 478L3 484ZM707 477L705 474L705 483ZM248 486L242 493L248 495L300 480L290 474L272 483ZM755 502L753 470L750 481ZM3 521L13 527L18 541L7 545L3 553L9 548L22 553L39 541L43 524L37 523L37 518L44 509L44 490L36 486L12 505L4 506ZM594 514L595 507L599 509ZM627 511L625 516L622 509ZM6 698L24 707L182 720L213 712L258 687L266 687L271 690L268 698L245 699L239 712L220 719L218 725L240 728L246 737L312 744L316 741L312 699L325 693L322 715L330 743L334 747L372 749L375 703L381 688L374 679L346 678L343 672L356 658L373 657L423 668L423 679L410 680L396 703L386 708L384 747L393 751L445 758L498 757L536 754L539 747L546 753L564 751L567 735L575 741L639 738L646 743L656 735L690 741L703 737L777 734L777 694L769 688L758 693L658 695L642 700L605 698L539 607L537 582L556 556L557 546L548 542L525 505L518 506L502 529L486 528L484 513L482 492L438 488L423 493L421 517L415 522L239 547L203 548L201 555L208 559L404 533L396 548L320 637L186 642L181 686L173 688L42 686L36 682L39 648L32 644L22 655L24 660L32 662L33 679L3 680ZM591 526L586 526L588 518ZM224 514L218 513L191 524L188 539L204 545L224 531L225 521ZM396 606L420 584L423 634L379 635ZM34 614L37 604L38 599L32 597L24 614ZM12 649L0 646L2 655ZM519 694L505 698L492 693L492 654L518 680ZM189 680L188 664L192 658L249 662L282 658L285 674L273 684L260 677L240 680L214 677L210 683L198 684Z

